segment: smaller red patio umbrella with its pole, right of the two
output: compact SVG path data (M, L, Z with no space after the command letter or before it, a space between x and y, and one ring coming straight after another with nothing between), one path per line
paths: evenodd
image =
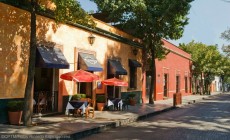
M113 97L115 94L115 86L120 86L120 87L127 87L128 86L128 82L122 81L120 79L117 78L110 78L110 79L106 79L101 81L103 84L105 85L109 85L109 86L113 86Z

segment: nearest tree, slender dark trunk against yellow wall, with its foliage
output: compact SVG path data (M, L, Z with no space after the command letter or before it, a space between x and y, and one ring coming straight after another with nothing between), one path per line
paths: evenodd
M79 2L75 0L52 0L56 5L54 10L54 15L56 21L58 22L74 22L83 24L86 26L94 26L93 20L90 16L80 7ZM28 0L30 3L30 13L31 13L31 32L30 32L30 57L28 66L28 77L25 88L25 105L24 105L24 115L23 123L25 126L30 126L32 124L32 112L33 112L33 92L32 86L35 74L35 57L36 57L36 13L38 10L42 10L41 4L38 0Z

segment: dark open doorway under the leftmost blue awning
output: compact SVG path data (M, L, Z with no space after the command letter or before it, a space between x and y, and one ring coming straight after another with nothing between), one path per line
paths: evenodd
M58 108L58 75L54 68L36 68L34 77L34 113L53 113Z

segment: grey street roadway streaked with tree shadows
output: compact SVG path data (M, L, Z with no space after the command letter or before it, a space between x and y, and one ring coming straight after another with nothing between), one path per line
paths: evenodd
M230 94L133 122L83 140L229 140Z

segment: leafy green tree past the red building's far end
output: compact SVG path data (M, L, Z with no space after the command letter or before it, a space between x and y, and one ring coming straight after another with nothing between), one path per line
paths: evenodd
M192 55L193 76L195 81L200 79L200 91L198 91L198 84L195 83L196 92L210 93L210 85L214 80L214 76L221 75L222 70L222 55L218 51L216 45L207 46L203 43L196 43L194 41L188 44L180 44L179 46L184 51Z

